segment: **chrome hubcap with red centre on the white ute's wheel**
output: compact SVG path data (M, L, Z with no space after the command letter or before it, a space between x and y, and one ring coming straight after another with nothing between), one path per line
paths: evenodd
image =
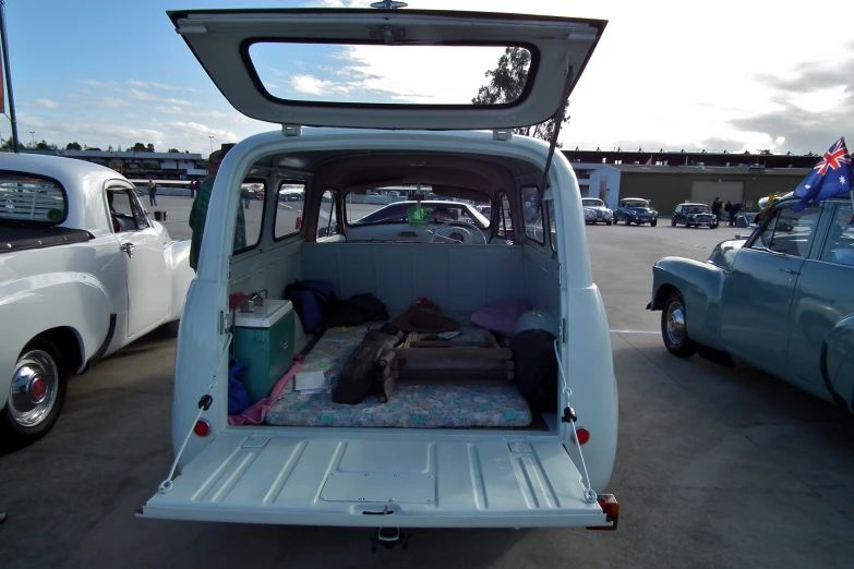
M15 365L9 388L9 411L24 427L41 423L57 401L57 364L47 352L25 353Z

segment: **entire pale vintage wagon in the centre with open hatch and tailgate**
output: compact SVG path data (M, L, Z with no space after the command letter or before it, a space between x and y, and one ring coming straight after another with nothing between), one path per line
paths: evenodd
M417 10L169 16L233 107L279 126L237 144L217 174L178 339L176 461L140 516L390 528L377 533L388 542L416 526L614 529L618 506L604 493L616 452L617 389L578 184L554 144L513 135L563 112L605 22ZM444 81L442 61L474 62L479 83L508 47L526 50L530 62L525 88L506 104L472 105L477 85L459 100L384 99L376 95L384 85L359 74L372 62L434 52L435 69L409 75L429 87ZM318 75L312 94L284 86L297 76L289 73L302 81L317 52L356 63ZM366 86L336 87L336 76ZM264 208L246 209L246 246L234 250L234 232L244 227L237 222L239 189L249 181L265 185ZM304 201L277 201L281 184L303 186ZM366 192L417 184L436 199L492 204L488 239L411 242L410 233L437 229L418 216L401 235L363 237L364 228L351 223L382 207L359 203ZM507 227L516 228L512 238ZM338 299L372 294L393 317L428 298L460 331L485 306L524 303L510 336L554 335L546 347L560 367L543 382L557 404L533 411L513 382L477 385L465 373L426 386L429 397L398 385L409 395L396 390L387 402L337 404L322 387L294 392L286 375L293 368L270 367L282 351L301 355L302 372L326 373L366 331L329 328L312 346L316 338L303 337L300 319L291 319L284 339L273 339L281 314L297 312L286 287L317 280L332 283ZM254 313L248 303L232 310L234 293L254 299ZM254 339L241 348L246 329ZM265 350L266 359L245 355ZM229 416L232 354L253 376L284 379L256 402L256 422Z

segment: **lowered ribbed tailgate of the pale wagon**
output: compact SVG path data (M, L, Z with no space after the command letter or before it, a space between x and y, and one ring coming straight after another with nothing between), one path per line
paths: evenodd
M533 437L532 437L533 438ZM610 526L557 439L226 431L140 517L394 526Z

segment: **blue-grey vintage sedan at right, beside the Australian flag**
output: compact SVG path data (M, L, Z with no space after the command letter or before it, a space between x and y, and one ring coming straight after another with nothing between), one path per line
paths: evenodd
M661 335L678 356L756 365L849 412L854 410L854 218L851 198L799 213L791 194L746 239L705 263L653 266Z

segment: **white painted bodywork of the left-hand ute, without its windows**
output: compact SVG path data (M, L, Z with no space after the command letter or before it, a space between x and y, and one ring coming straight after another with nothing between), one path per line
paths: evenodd
M0 409L8 403L16 362L27 344L51 337L68 372L83 373L100 358L179 319L194 277L190 242L170 239L166 228L145 211L134 185L115 170L71 158L0 154L0 178L9 174L58 182L68 209L58 227L89 235L73 243L21 250L2 244L0 322L14 326L7 328L0 342ZM116 233L108 190L128 192L140 204L148 227ZM4 195L14 198L11 192ZM14 205L4 209L0 204L0 222L4 210L14 214ZM32 425L33 431L38 426Z

